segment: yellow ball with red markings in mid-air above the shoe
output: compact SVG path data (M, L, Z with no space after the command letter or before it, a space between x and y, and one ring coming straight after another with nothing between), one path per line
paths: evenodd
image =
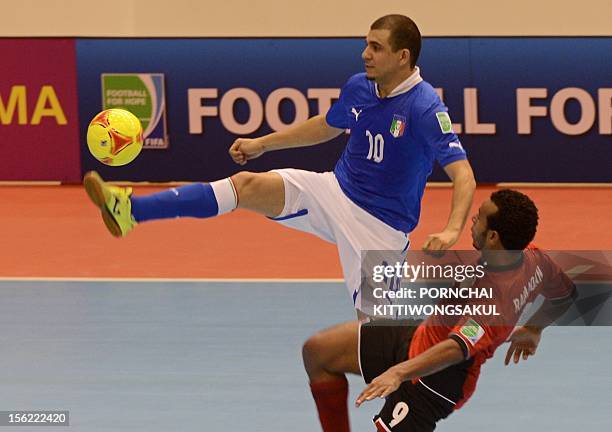
M126 165L142 150L142 125L134 114L112 108L99 113L87 128L87 147L100 162Z

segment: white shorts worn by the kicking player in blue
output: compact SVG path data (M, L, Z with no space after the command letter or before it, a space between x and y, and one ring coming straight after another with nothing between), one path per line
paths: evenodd
M274 172L283 178L285 207L272 220L337 245L346 287L355 308L360 309L361 252L401 251L405 257L410 244L408 235L353 203L333 172L293 168Z

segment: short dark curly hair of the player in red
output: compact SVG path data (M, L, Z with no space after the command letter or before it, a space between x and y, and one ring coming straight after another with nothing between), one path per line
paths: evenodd
M497 212L487 217L487 228L497 231L504 249L523 250L538 226L538 208L525 194L502 189L491 194Z

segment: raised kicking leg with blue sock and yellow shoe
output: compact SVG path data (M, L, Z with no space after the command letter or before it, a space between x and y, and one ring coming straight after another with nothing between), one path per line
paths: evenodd
M131 188L109 186L96 172L87 173L83 184L116 237L148 220L213 217L236 207L273 217L285 204L283 180L274 172L241 172L212 183L193 183L146 196L133 196Z

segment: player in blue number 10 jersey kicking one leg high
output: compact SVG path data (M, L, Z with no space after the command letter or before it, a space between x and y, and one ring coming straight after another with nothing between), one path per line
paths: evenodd
M362 53L365 73L352 76L326 114L263 137L237 139L232 159L245 165L266 152L329 141L350 129L333 172L280 169L239 172L147 196L106 185L95 172L85 189L109 231L125 236L138 223L175 217L213 217L245 208L333 242L355 308L361 252L405 254L416 227L427 177L438 162L453 182L450 215L425 250L451 247L463 230L475 181L447 108L420 75L421 35L402 15L376 20Z

